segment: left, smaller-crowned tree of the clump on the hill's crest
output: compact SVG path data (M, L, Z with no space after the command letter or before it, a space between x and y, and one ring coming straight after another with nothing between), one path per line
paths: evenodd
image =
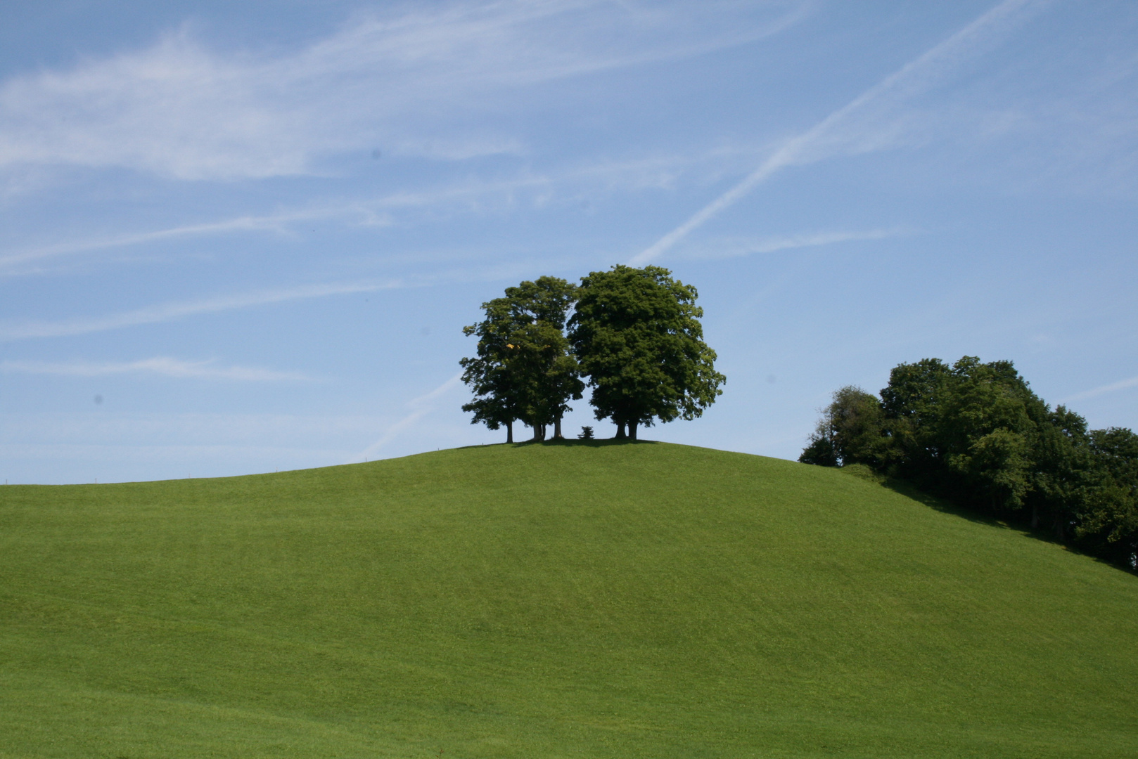
M505 290L505 296L483 304L486 317L463 328L478 337L477 355L463 358L462 379L475 399L463 405L472 423L506 428L513 442L513 422L545 438L547 424L561 437L561 418L570 399L582 397L584 382L564 336L575 287L554 277L542 277Z

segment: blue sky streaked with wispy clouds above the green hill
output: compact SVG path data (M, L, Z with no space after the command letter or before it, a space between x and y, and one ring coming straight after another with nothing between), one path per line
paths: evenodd
M462 325L616 263L727 376L646 438L793 459L962 355L1135 428L1136 200L1132 2L10 1L0 478L500 442Z

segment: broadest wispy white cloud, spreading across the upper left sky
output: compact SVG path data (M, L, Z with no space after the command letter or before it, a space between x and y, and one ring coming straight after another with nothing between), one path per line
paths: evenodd
M0 167L124 166L183 180L303 174L366 149L517 152L471 114L496 92L774 34L809 3L453 2L360 17L275 58L154 47L0 84Z

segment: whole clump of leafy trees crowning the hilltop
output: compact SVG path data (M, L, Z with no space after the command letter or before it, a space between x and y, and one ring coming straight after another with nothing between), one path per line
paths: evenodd
M596 419L611 419L617 438L640 426L693 419L723 393L715 352L703 343L696 291L659 266L617 265L580 284L542 277L483 304L485 319L462 329L478 337L463 358L462 381L475 398L462 406L473 423L561 437L570 401L593 389ZM626 435L627 430L627 435Z

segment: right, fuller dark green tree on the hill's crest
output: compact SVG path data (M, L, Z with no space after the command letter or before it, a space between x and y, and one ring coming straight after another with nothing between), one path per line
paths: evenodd
M597 419L636 439L654 420L694 419L723 393L715 350L703 343L695 288L659 266L617 265L582 278L569 340Z

